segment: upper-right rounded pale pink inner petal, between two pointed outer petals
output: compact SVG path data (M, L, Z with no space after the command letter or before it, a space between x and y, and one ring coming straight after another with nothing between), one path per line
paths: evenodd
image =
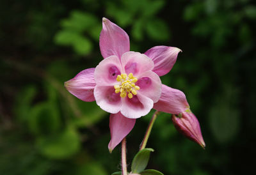
M121 62L125 68L125 73L133 73L135 77L154 68L154 62L139 52L126 52L123 54Z

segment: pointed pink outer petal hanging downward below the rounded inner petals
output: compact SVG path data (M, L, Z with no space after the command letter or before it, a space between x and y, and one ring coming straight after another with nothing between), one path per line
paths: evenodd
M125 116L123 116L120 112L110 115L109 128L111 140L108 144L110 153L124 139L124 137L131 132L135 125L135 121L136 119L125 118Z

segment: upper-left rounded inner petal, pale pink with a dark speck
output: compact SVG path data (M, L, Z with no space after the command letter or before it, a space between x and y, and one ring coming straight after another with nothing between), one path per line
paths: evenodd
M117 56L109 56L96 66L94 78L97 85L109 86L117 83L116 77L122 72L122 66Z

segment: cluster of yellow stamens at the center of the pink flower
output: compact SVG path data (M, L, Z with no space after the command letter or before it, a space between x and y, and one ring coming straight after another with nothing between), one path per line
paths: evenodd
M128 97L132 98L133 95L137 95L137 91L140 90L139 86L135 86L135 82L138 81L136 77L133 77L132 73L129 73L127 76L126 73L121 73L121 75L117 75L116 80L120 82L120 84L116 84L114 86L115 93L120 93L122 98L128 93Z

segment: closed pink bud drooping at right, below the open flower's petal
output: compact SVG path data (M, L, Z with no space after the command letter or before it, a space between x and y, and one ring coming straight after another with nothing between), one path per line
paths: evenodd
M201 129L196 116L191 112L191 110L187 109L184 112L180 113L178 116L173 115L172 121L175 128L185 135L191 141L194 141L202 148L205 148L205 142L202 137Z

